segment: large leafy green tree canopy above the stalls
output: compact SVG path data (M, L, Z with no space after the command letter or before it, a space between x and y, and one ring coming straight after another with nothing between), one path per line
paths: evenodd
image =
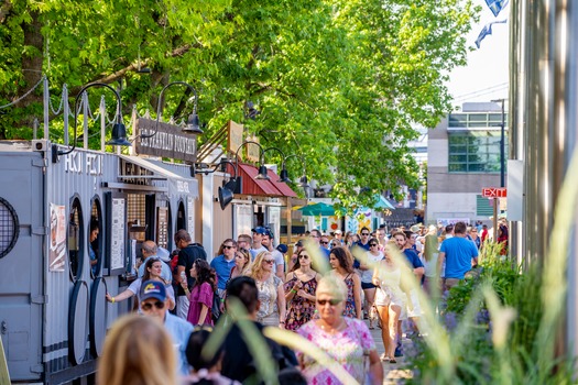
M46 74L72 95L122 81L128 113L185 80L199 90L205 138L243 121L251 101L261 113L244 123L261 143L302 155L345 207L371 206L377 193L416 186L412 124L435 127L449 112L447 74L465 63L476 12L468 0L4 0L0 105ZM34 94L8 110L0 136L30 135L39 101ZM167 96L171 111L183 103L179 91ZM293 175L302 166L288 162Z

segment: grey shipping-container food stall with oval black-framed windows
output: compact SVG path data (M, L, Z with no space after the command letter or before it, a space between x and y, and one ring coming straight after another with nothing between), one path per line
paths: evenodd
M189 166L67 148L0 141L0 336L15 383L90 382L131 310L105 295L134 279L139 243L172 250L178 229L194 231Z

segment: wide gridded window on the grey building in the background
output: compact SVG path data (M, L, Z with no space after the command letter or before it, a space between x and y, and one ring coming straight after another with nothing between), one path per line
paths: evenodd
M500 173L500 130L448 132L448 172Z

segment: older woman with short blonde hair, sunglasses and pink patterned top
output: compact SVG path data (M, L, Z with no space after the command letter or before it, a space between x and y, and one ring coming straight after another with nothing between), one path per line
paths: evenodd
M337 276L323 277L315 294L319 319L297 329L297 333L315 343L341 365L359 384L383 384L375 342L362 320L343 317L347 286ZM297 352L308 384L339 384L339 380L306 352Z

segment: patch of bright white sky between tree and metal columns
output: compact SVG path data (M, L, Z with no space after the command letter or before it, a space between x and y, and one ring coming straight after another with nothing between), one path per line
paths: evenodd
M468 101L508 98L509 23L493 24L492 34L486 36L479 50L475 42L487 23L510 16L510 6L494 18L484 0L473 0L473 2L482 8L480 21L472 25L467 36L467 44L472 46L473 51L468 53L467 66L451 72L448 84L449 92L454 97L454 106L457 107Z

